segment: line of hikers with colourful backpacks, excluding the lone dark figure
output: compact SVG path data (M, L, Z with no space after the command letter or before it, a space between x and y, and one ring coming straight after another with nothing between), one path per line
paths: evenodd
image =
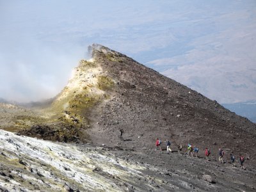
M172 148L171 148L171 142L169 140L166 140L166 150L167 150L167 153L170 154L170 152L172 152ZM162 144L162 141L159 140L159 138L156 139L156 150L159 148L159 150L162 150L161 148L161 144ZM182 151L182 145L180 144L178 146L178 152L180 154L180 152ZM191 154L191 157L193 157L195 155L195 157L198 157L198 152L199 152L199 148L197 147L192 147L192 145L190 143L188 143L188 150L186 151L186 154L189 156L189 154ZM205 159L207 161L209 161L209 156L211 155L211 151L208 149L208 148L205 148ZM219 148L219 161L220 163L224 163L224 160L223 160L223 157L225 156L225 152L222 148ZM230 160L231 160L231 164L232 166L235 166L235 156L233 154L230 154ZM239 157L239 161L240 161L240 165L241 165L241 168L245 169L244 168L244 156L242 156L242 154L240 154L240 157Z

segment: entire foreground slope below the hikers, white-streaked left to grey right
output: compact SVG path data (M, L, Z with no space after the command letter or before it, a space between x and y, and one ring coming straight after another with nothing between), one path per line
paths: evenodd
M256 170L173 152L52 143L0 130L0 191L255 191Z

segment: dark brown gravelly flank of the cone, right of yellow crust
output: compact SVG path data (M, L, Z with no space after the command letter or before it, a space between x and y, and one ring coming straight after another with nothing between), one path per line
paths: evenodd
M192 143L213 154L219 147L236 154L249 152L255 161L256 125L223 108L216 100L165 77L107 47L90 47L95 63L115 80L111 99L90 111L91 139L95 144L152 148L156 138ZM140 135L143 135L142 137ZM253 156L253 157L252 157Z

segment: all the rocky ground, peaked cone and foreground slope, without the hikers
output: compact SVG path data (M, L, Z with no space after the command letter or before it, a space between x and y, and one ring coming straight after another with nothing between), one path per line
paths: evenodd
M254 190L255 124L124 54L89 50L51 103L0 104L0 128L31 137L1 131L2 191ZM201 157L208 147L212 161L154 152L157 137ZM220 147L246 170L218 164Z

